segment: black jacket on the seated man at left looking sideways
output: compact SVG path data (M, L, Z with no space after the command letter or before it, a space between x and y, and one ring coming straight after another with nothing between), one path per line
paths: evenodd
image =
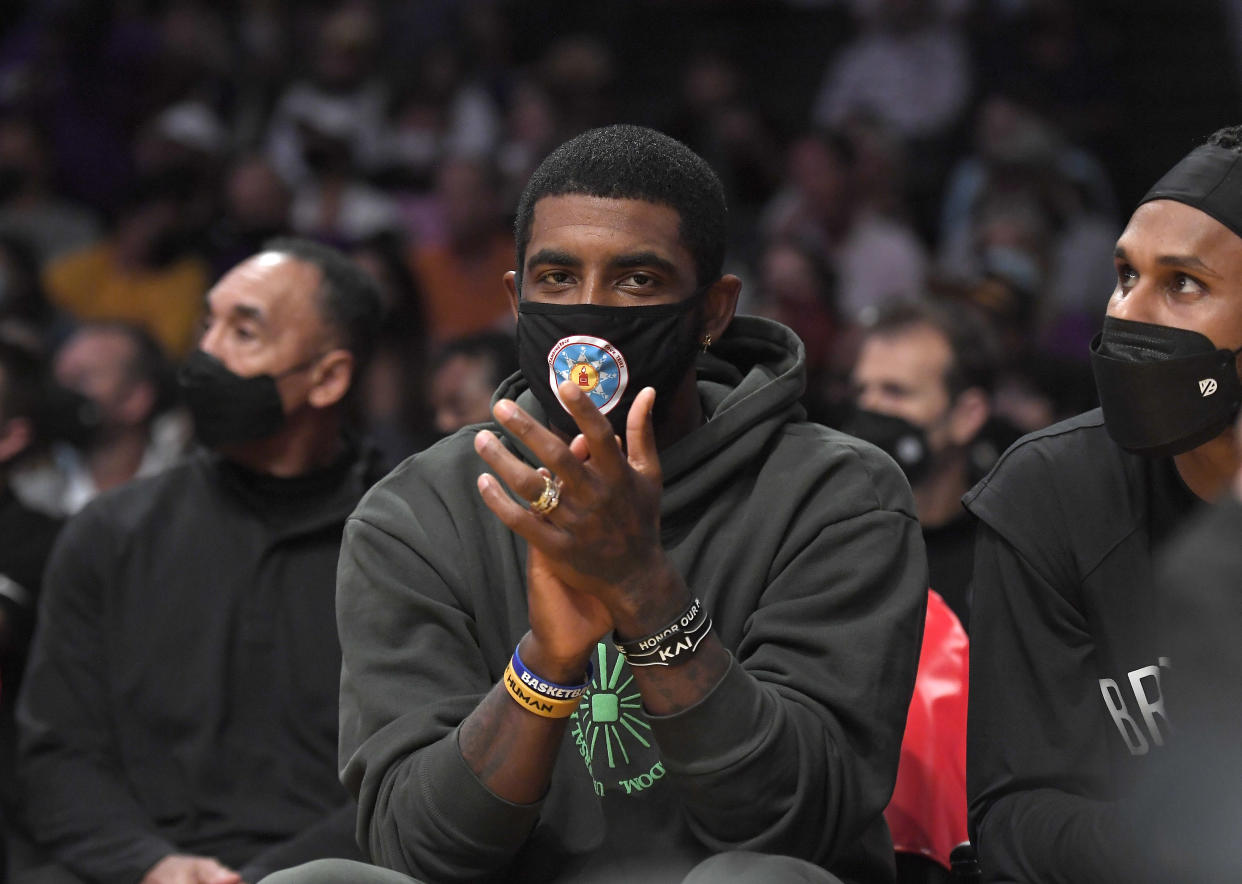
M363 459L296 479L202 454L92 502L43 587L19 704L30 833L132 884L169 853L255 882L356 855L333 617Z

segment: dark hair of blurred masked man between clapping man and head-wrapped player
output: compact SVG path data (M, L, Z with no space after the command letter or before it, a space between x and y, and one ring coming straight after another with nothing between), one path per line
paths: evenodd
M991 395L996 386L1000 348L987 322L974 308L953 300L894 300L879 308L863 329L867 338L898 335L928 327L939 332L953 353L944 384L955 400L970 387Z

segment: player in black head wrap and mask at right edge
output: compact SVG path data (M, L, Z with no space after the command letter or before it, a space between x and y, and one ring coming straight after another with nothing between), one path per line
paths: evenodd
M1240 466L1242 127L1192 150L1117 243L1092 343L1102 408L1018 441L964 498L972 575L968 791L984 880L1190 880L1135 819L1184 687L1154 550ZM1172 724L1170 724L1172 721ZM1146 827L1148 842L1161 837ZM1192 879L1192 878L1191 878Z

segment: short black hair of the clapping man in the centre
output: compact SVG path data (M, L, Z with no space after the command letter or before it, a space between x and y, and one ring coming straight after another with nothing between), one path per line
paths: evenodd
M697 287L720 278L728 209L724 186L712 166L676 138L655 129L606 125L561 144L527 181L513 223L519 286L535 204L545 196L570 194L668 206L681 219L682 242L694 257Z

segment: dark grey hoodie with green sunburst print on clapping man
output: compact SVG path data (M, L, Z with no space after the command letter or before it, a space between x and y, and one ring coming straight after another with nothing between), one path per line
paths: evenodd
M345 531L338 617L344 777L375 862L435 882L662 882L745 848L891 880L881 812L927 560L900 471L804 422L801 387L801 344L776 323L738 318L700 358L709 420L661 452L661 529L733 667L694 708L648 718L601 642L530 806L488 792L457 746L528 629L525 545L479 498L474 431L368 494ZM501 394L542 416L520 376Z

